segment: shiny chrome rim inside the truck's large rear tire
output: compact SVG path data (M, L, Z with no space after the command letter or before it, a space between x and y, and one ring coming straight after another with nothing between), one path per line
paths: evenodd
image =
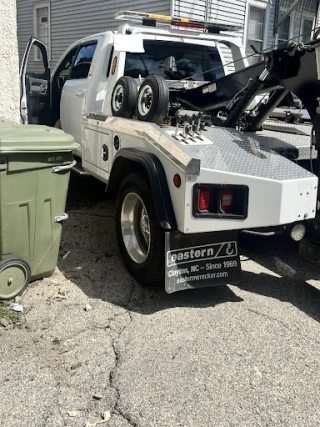
M121 232L128 255L137 264L142 264L150 250L150 221L146 207L136 193L128 193L122 202Z

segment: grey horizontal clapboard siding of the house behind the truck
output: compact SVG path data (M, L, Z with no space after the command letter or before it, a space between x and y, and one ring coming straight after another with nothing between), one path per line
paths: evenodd
M289 0L281 0L289 1ZM317 0L303 0L316 2ZM17 0L18 43L20 60L30 35L34 34L34 5L50 3L51 8L51 61L53 67L65 49L75 40L106 30L116 29L114 13L136 10L160 14L173 14L210 22L239 26L235 33L245 46L249 5L266 6L264 49L275 45L274 21L277 0ZM228 72L234 71L231 52L223 48ZM30 69L40 71L41 64L33 61Z

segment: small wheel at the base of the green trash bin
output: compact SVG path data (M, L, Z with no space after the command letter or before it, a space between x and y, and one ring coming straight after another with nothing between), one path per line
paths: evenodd
M19 295L29 284L31 270L19 258L0 261L0 299L11 299Z

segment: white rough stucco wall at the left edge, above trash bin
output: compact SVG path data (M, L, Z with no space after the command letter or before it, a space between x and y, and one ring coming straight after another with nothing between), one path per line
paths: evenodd
M16 4L0 1L0 117L19 121L19 60Z

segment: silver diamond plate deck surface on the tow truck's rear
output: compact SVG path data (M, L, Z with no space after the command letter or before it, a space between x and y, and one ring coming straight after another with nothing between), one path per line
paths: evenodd
M202 168L279 181L314 176L266 146L266 135L211 127L204 132L204 136L213 144L197 146L178 143L191 157L201 160Z

